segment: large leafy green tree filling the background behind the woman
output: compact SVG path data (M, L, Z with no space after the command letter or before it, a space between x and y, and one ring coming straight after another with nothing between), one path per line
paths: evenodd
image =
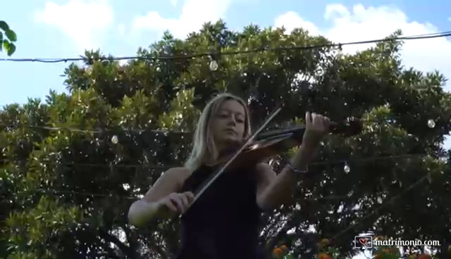
M194 122L221 91L249 100L254 128L279 103L284 110L273 126L302 123L306 110L364 120L361 134L324 141L295 204L265 213L268 249L285 244L309 258L324 248L319 240L330 239L343 258L357 253L354 236L369 231L450 241L450 156L440 147L451 119L445 78L403 68L401 42L352 55L330 43L302 29L233 32L219 21L185 40L165 33L127 65L87 51L82 64L66 69L69 94L51 91L44 103L1 111L1 257L173 255L178 221L136 229L128 208L183 163ZM293 48L311 45L325 46ZM249 49L261 51L233 53ZM414 155L392 157L407 154ZM276 171L280 164L273 163Z

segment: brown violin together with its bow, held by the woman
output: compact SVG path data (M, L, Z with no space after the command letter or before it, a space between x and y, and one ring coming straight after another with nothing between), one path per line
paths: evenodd
M245 144L242 144L240 149L235 151L232 156L226 156L221 158L215 165L222 165L222 167L216 172L212 173L211 176L206 179L204 184L196 191L194 194L194 201L191 205L197 201L199 196L201 196L204 191L226 170L240 167L242 165L254 165L260 163L263 160L277 156L280 152L288 151L296 146L302 144L302 138L304 137L304 132L307 130L305 125L290 127L278 130L269 130L259 134L268 123L280 112L281 108L278 108L270 117L264 122L259 130L254 132L251 137L249 137ZM331 122L328 132L330 134L342 134L345 137L351 137L362 132L363 125L362 122L350 118L344 122Z

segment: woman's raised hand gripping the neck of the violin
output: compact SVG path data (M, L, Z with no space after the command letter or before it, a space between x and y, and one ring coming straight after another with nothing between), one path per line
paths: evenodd
M305 113L305 122L306 130L302 138L302 144L314 148L319 144L324 135L329 132L329 127L332 122L323 115L309 112Z

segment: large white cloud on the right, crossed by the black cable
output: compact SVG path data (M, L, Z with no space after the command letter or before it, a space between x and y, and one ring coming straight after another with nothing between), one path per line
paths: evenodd
M278 27L284 25L287 28L304 27L313 32L312 34L319 32L337 43L381 39L398 29L402 30L404 36L439 32L438 28L430 23L409 21L407 15L394 6L365 8L362 4L357 4L351 10L342 4L329 4L326 6L324 19L330 23L330 27L320 29L290 11L276 18L275 25ZM374 44L344 46L343 52L354 53L369 46ZM404 41L400 53L402 62L407 67L412 66L424 72L437 69L451 80L449 40L445 38L407 40ZM451 84L448 83L445 89L450 91Z

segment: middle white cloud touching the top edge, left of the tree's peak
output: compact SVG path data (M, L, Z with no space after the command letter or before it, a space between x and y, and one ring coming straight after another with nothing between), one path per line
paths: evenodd
M135 18L135 30L163 32L169 30L175 37L185 39L188 33L199 30L206 22L225 18L231 0L186 0L179 18L166 19L156 11Z

